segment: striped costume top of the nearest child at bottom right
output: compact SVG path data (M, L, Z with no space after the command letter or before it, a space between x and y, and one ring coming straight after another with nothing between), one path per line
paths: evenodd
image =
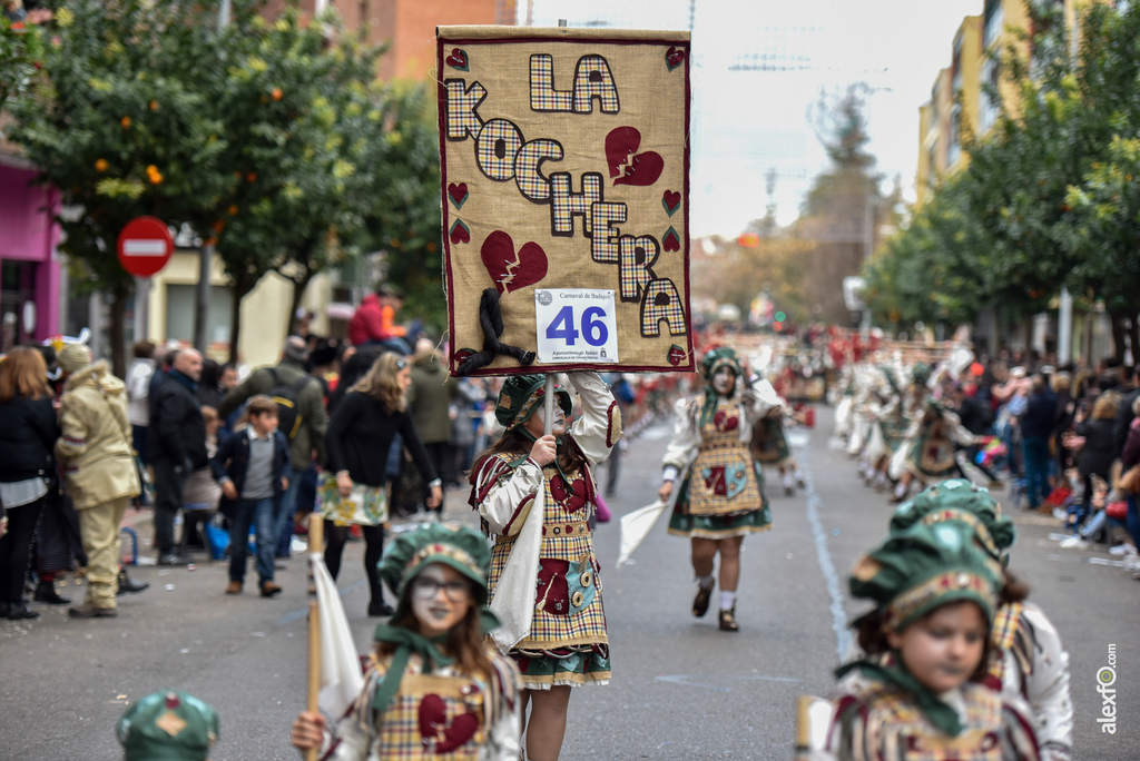
M836 761L1037 761L1037 740L1026 706L1007 702L983 685L967 682L945 698L955 705L962 731L942 733L911 695L866 681L833 701L826 751Z

